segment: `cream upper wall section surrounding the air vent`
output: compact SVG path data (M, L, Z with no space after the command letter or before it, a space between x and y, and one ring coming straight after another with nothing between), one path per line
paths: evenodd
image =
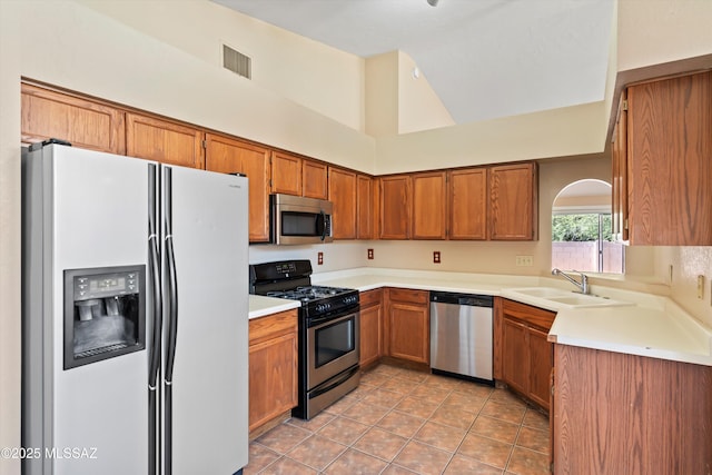
M216 67L226 43L253 59L254 83L365 130L363 58L208 0L79 2Z

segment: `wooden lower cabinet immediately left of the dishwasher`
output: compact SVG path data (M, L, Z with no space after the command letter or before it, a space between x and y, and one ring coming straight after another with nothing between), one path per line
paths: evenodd
M414 363L431 362L431 309L427 290L388 288L387 355Z

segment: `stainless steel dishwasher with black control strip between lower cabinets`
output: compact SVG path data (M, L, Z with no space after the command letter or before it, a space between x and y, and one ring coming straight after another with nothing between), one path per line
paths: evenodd
M431 291L431 368L494 384L493 298Z

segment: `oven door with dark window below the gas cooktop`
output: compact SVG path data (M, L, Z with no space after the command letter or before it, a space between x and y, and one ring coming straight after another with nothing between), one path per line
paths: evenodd
M358 365L359 311L307 328L307 389Z

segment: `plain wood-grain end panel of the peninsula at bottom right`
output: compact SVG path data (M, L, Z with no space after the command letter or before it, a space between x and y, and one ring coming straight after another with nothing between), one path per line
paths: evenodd
M554 473L712 473L711 366L567 345L554 355Z

